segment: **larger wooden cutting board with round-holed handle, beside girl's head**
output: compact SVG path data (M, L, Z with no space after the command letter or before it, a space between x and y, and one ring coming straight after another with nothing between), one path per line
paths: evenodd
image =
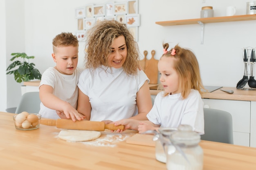
M157 84L157 75L158 75L158 69L157 69L157 64L158 60L154 58L155 56L155 50L151 51L151 59L146 60L146 65L145 65L145 73L148 76L150 80L150 84Z

